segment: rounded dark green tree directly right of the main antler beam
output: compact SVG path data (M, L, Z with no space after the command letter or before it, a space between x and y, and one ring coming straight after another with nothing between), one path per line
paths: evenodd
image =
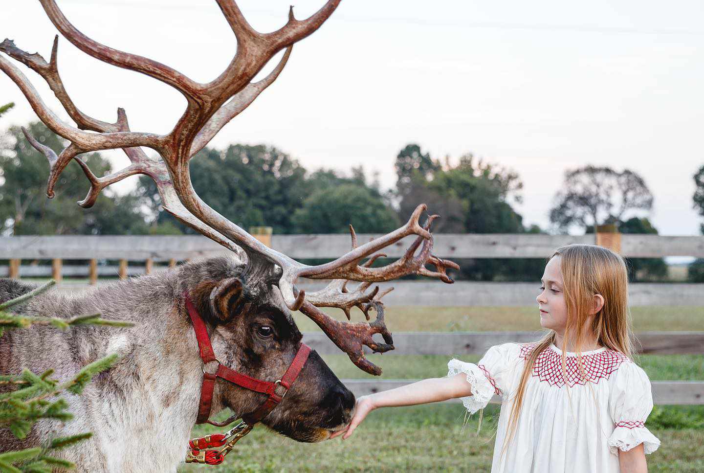
M292 217L306 191L306 170L289 155L264 145L231 145L225 151L205 148L191 160L191 181L199 196L244 229L267 225L277 234L293 231ZM184 233L194 230L160 212L156 185L141 176L134 195L156 215Z

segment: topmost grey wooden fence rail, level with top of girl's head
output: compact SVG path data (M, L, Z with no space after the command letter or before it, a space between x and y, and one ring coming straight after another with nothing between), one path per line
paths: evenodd
M359 234L359 244L376 234ZM384 250L389 257L403 254L413 237ZM593 244L593 235L546 234L437 234L434 253L442 258L546 258L559 246ZM337 258L349 251L346 234L273 235L271 246L291 258ZM704 236L622 234L623 256L704 258ZM227 250L201 235L61 235L0 237L0 259L126 259L185 260L227 254Z

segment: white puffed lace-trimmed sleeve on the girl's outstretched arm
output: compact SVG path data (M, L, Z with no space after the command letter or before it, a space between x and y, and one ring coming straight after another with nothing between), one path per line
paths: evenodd
M517 351L520 351L517 347L516 343L492 346L476 365L455 358L448 362L448 376L464 373L467 382L472 385L472 396L462 398L462 403L470 414L484 409L494 394L503 398L508 393L508 373L510 367L517 362Z

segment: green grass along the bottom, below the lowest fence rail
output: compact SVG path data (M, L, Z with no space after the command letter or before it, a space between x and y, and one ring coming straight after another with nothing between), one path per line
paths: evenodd
M696 410L692 410L696 411ZM698 411L701 411L699 409ZM208 472L489 472L498 408L464 426L461 405L421 405L372 412L346 441L297 443L264 427L241 440L218 467L184 465L181 473ZM703 412L696 412L704 418ZM662 446L648 456L650 472L701 472L704 429L661 428L648 422ZM218 430L196 427L194 436Z

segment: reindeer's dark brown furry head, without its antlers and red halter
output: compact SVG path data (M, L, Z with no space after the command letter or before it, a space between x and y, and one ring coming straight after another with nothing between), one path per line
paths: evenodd
M301 343L301 332L275 287L280 270L265 260L241 263L210 258L179 269L185 291L206 323L220 362L256 379L280 379ZM266 398L240 386L219 381L221 405L241 417ZM327 439L349 422L354 396L310 353L284 400L263 423L298 441Z

